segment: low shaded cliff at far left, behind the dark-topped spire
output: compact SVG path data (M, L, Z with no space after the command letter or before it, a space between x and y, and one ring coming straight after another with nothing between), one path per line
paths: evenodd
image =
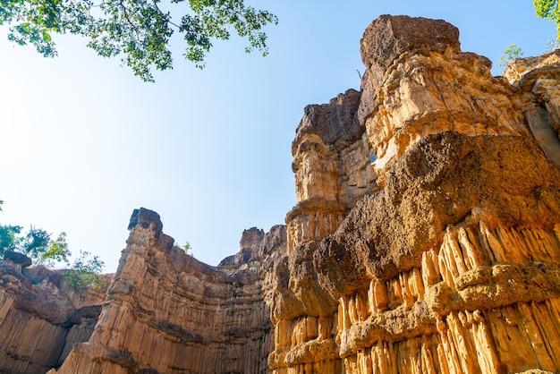
M30 267L6 252L0 263L0 372L45 373L87 342L106 289L73 291L60 271ZM106 279L107 284L110 281Z

